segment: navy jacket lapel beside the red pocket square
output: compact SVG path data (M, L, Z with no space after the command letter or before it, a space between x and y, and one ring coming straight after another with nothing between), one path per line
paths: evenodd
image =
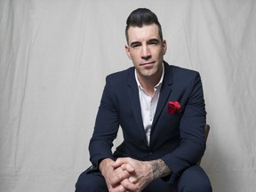
M152 128L154 128L154 125L156 124L158 117L160 116L161 112L164 110L164 106L171 92L172 92L172 70L170 66L166 62L164 62L164 80L161 87Z

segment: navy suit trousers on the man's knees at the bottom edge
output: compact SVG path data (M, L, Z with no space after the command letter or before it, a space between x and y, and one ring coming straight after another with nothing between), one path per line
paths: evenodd
M162 179L153 180L143 192L212 192L211 182L199 165L182 172L173 184ZM76 192L108 192L104 177L100 172L82 172L76 182Z

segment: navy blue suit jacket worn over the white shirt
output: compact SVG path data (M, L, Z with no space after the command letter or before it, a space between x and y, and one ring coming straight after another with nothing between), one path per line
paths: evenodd
M205 108L201 78L196 71L170 66L164 61L164 80L148 146L144 131L135 68L109 75L100 100L90 140L91 169L104 158L132 157L147 161L161 158L175 176L204 155ZM168 101L181 110L167 112ZM124 142L112 153L113 140L122 127Z

